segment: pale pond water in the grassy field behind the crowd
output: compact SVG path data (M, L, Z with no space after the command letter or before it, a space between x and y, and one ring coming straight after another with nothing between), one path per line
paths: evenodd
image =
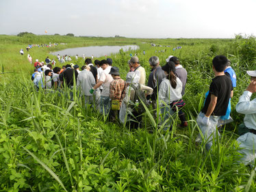
M81 57L83 54L86 57L90 57L94 55L94 57L101 57L104 55L111 55L112 53L118 53L120 49L123 49L123 51L129 51L139 49L140 47L138 45L123 45L123 46L84 46L84 47L77 47L72 49L64 49L62 51L56 51L52 52L51 54L57 55L70 55L75 56L78 55Z

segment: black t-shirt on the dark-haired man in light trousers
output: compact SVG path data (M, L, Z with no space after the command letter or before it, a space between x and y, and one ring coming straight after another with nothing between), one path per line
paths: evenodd
M227 77L227 75L217 76L212 79L212 83L209 86L209 94L205 100L205 105L202 109L202 112L207 112L209 102L211 101L211 95L213 94L217 97L217 104L211 115L225 115L227 106L229 105L229 98L232 90L232 82L231 79Z

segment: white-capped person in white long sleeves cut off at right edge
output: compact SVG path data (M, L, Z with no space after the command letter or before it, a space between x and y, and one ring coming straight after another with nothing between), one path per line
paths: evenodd
M240 152L243 156L240 160L245 165L255 165L256 158L256 98L251 100L251 96L256 92L256 70L247 71L251 76L251 83L248 85L242 96L240 96L235 109L238 113L244 114L243 126L244 135L238 137L237 141L240 144Z

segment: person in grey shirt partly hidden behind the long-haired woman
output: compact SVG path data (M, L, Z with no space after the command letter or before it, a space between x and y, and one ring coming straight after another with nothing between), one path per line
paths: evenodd
M179 79L182 82L182 92L181 95L183 96L185 94L185 84L187 83L188 80L188 72L179 64L179 59L177 57L170 57L169 61L172 61L175 63L175 69L176 69L176 76L179 77Z

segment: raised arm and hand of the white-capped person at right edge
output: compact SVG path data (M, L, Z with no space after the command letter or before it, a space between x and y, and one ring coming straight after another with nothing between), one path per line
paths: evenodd
M248 85L246 91L242 96L240 96L238 104L235 106L235 109L238 113L242 114L252 114L256 113L256 99L251 100L251 96L256 92L256 81L251 81Z

